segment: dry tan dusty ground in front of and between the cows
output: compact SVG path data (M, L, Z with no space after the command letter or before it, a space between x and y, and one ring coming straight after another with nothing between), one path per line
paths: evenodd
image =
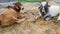
M30 6L24 11L27 11L27 13L24 15L26 15L28 19L20 24L15 24L6 28L0 28L0 34L60 34L60 23L54 22L54 19L44 21L42 18L38 18L36 22L33 22L35 19L30 12L33 14L38 13L37 6Z

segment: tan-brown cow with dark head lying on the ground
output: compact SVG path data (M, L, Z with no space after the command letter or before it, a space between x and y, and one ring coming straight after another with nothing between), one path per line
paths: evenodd
M14 6L7 6L7 9L0 14L0 25L1 27L9 26L16 23L21 17L20 10L23 10L22 4L16 2Z

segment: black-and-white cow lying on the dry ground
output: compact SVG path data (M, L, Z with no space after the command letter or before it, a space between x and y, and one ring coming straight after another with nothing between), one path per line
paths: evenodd
M44 20L50 20L60 14L60 6L49 5L48 2L41 2L39 10ZM58 20L60 20L60 15L58 16Z

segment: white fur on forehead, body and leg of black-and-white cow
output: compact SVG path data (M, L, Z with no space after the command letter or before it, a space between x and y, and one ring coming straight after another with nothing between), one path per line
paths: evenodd
M46 2L42 2L41 4L42 4L42 6L45 6ZM54 16L57 16L59 14L57 20L60 20L60 11L59 10L60 10L60 6L50 6L49 12L46 15L51 15L52 17L54 17Z

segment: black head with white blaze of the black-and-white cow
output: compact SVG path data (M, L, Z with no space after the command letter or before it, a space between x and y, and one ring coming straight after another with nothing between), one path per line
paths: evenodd
M48 5L48 2L41 2L41 6L39 7L39 10L40 10L42 17L48 13L49 7L50 6Z

